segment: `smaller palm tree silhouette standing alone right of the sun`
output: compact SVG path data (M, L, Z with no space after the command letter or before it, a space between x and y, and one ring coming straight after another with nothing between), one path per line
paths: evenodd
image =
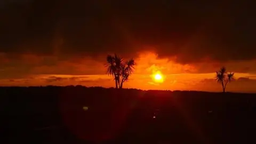
M235 73L227 74L227 69L225 67L221 67L219 71L216 71L215 79L217 82L221 83L223 92L226 92L227 84L234 79L234 74Z

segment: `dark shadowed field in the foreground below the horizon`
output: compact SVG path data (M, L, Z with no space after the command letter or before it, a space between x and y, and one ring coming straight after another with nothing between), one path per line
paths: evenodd
M256 94L2 87L0 98L0 143L256 142Z

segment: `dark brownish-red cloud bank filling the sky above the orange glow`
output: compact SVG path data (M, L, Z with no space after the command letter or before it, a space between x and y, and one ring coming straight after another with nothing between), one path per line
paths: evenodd
M0 51L69 55L153 50L181 63L256 58L251 1L27 1L0 10Z

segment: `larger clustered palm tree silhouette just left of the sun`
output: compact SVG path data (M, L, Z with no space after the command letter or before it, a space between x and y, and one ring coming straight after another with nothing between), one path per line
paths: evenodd
M118 57L117 54L107 55L107 74L114 77L116 89L122 89L123 83L127 82L129 76L134 71L135 62L133 59L124 62L123 58Z

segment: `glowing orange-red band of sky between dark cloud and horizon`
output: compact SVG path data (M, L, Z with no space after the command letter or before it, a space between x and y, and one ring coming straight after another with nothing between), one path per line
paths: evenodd
M54 61L54 59L54 57L39 57L32 54L24 54L17 61L5 59L2 65L14 63L19 66L2 68L0 84L2 86L85 85L115 87L113 77L106 75L105 61L87 57L68 61L57 60L53 66L42 65L42 62ZM205 61L182 65L172 59L158 58L157 54L153 52L140 53L134 59L137 65L135 66L135 73L124 85L127 88L221 91L221 85L214 79L214 71L225 65L228 70L235 72L236 78L228 84L227 91L255 92L256 90L256 75L242 73L243 69L239 69L244 65L253 65L255 61L226 63ZM163 83L154 81L153 74L157 71L161 71L163 74Z

